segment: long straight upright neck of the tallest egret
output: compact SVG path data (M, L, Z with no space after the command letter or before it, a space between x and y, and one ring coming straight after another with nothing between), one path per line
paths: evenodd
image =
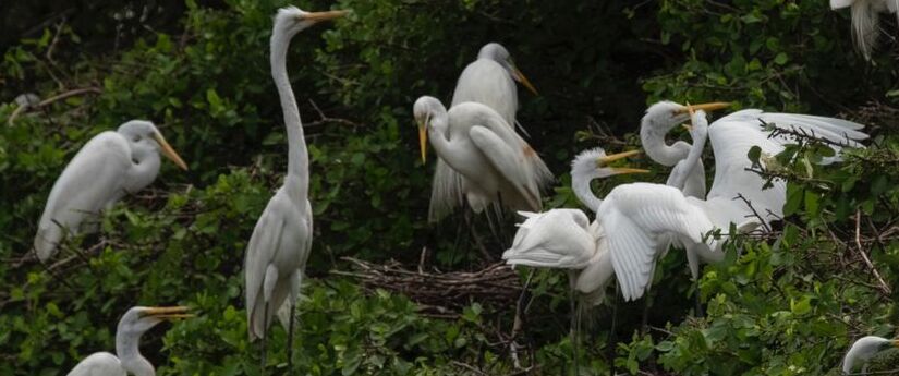
M309 190L309 155L306 141L303 137L303 123L300 120L300 109L288 77L287 54L292 35L283 35L274 31L271 35L271 78L278 88L281 109L284 112L284 126L288 131L288 175L284 179L284 189L289 196L304 204Z

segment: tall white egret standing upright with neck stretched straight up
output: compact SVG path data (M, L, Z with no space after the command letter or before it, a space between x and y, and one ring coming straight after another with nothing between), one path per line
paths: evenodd
M281 323L288 327L288 365L293 335L293 310L312 247L313 218L308 201L309 156L303 137L300 110L290 86L287 52L296 33L345 11L309 13L295 7L278 10L271 29L271 77L278 88L288 133L288 174L284 185L269 199L246 247L246 316L250 339L263 339L265 367L266 330L275 310L289 304ZM288 317L284 317L288 316ZM289 323L284 323L287 319Z

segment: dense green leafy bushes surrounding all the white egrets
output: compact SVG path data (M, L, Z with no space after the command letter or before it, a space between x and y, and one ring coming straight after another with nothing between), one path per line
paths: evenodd
M87 354L112 350L118 318L136 304L198 312L144 336L160 375L259 373L242 260L287 165L268 37L271 15L288 3L0 4L0 374L64 375ZM823 148L800 140L765 171L790 181L787 217L704 268L706 317L694 317L684 257L671 252L657 269L645 330L643 301L618 302L615 332L613 300L592 313L579 375L821 375L836 372L854 338L896 335L897 46L884 40L864 61L852 49L847 12L827 1L293 4L353 10L302 33L289 58L316 219L294 355L300 374L575 374L562 271L536 275L511 338L527 270L496 291L435 307L413 301L414 291L351 276L365 270L343 258L392 259L434 275L498 260L503 244L483 236L490 257L482 255L458 231L461 216L427 223L433 161L418 161L411 117L421 95L448 101L488 41L507 46L540 90L521 90L519 119L559 178L547 207L576 207L571 158L595 146L639 147L643 110L659 99L840 116L874 135L868 149L828 167L816 163ZM883 23L895 32L892 24ZM25 93L47 102L8 124ZM163 163L150 189L105 216L101 233L73 239L49 265L36 263L28 252L57 175L89 137L135 118L160 124L191 170ZM714 166L710 151L705 157ZM641 179L665 181L667 169L637 162L654 170ZM483 219L475 225L489 233ZM282 373L286 333L271 333L270 362ZM882 369L899 364L885 363Z

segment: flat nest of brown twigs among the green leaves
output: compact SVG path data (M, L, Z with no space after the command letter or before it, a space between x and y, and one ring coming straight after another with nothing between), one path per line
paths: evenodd
M521 283L518 274L502 263L475 271L410 270L399 262L373 264L343 257L353 265L352 271L332 270L331 274L355 278L373 292L384 289L402 293L416 302L423 315L458 317L472 302L509 306L518 301Z

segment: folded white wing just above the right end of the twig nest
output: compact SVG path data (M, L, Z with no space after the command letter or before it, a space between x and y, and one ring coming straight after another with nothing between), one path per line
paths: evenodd
M520 213L529 217L519 225L512 247L502 254L510 265L580 269L596 251L587 216L578 209Z

